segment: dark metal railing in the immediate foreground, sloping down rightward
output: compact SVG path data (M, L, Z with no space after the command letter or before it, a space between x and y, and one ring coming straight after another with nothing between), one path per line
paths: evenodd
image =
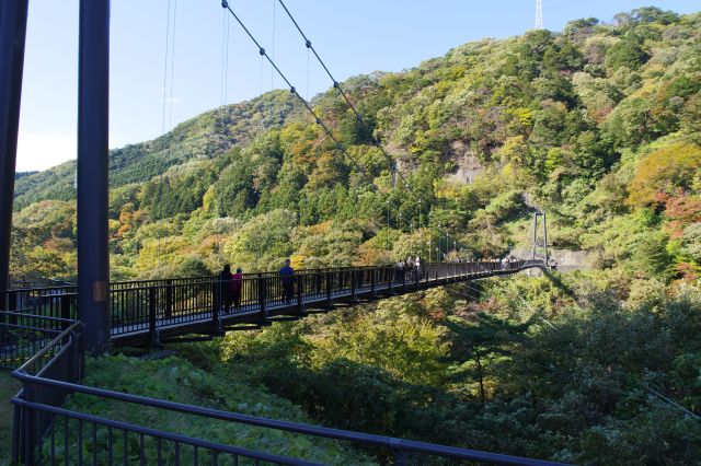
M371 447L384 451L386 456L393 457L394 464L422 464L425 459L451 458L497 465L552 465L554 463L529 459L495 453L479 452L467 448L435 445L424 442L407 441L384 435L329 429L297 422L280 421L262 417L252 417L235 412L221 411L199 406L184 405L174 401L128 395L101 388L88 387L74 383L48 380L28 375L23 372L12 374L25 387L33 387L32 396L25 395L12 400L21 410L24 419L44 417L48 420L45 431L35 439L24 440L27 448L34 444L34 451L25 450L25 458L37 464L239 464L241 459L251 459L254 464L312 465L303 458L294 458L268 454L260 451L241 448L223 443L212 442L168 432L151 427L108 419L76 410L59 408L53 404L42 403L36 394L59 391L60 393L79 393L94 397L96 401L138 405L143 408L180 412L216 421L234 422L278 432L290 432L314 439L331 439L347 442L353 447ZM125 407L126 409L126 407ZM25 427L26 429L26 427ZM37 430L28 429L28 435L37 434ZM22 434L21 434L22 435ZM21 436L20 435L20 436ZM34 463L32 463L34 464Z

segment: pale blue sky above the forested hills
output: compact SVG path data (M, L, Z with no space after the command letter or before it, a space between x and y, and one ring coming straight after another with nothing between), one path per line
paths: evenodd
M412 68L470 40L522 34L536 16L536 0L284 1L338 81ZM542 1L551 31L577 18L611 21L642 5L700 10L698 0ZM332 84L277 0L230 3L302 96ZM18 172L76 158L78 4L30 1ZM238 23L225 16L220 0L113 0L111 40L111 148L283 88Z

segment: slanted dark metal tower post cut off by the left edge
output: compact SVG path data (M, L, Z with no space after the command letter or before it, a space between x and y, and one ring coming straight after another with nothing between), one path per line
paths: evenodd
M10 276L14 167L28 0L0 2L0 308Z

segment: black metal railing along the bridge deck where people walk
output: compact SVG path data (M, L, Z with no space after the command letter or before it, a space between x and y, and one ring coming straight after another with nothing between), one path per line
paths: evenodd
M435 263L421 267L341 267L302 270L286 287L277 272L246 273L240 291L216 277L138 280L110 284L113 341L124 338L157 341L163 331L226 329L230 323L265 322L276 314L301 314L306 307L330 307L336 301L371 299L422 288L513 273L540 261ZM56 318L77 317L74 287L15 289L7 295L10 310Z

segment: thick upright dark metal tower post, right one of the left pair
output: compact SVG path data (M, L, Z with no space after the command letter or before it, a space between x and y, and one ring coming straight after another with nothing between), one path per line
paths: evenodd
M78 312L99 350L110 338L110 0L80 1L78 55Z

